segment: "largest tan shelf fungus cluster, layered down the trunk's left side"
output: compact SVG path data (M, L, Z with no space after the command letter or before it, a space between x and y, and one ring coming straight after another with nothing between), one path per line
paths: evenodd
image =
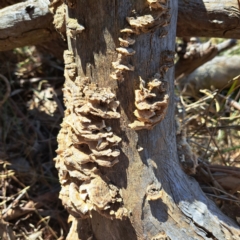
M65 51L66 69L74 63L72 52ZM72 66L72 65L71 65ZM100 88L88 78L74 81L66 72L64 85L65 117L58 135L56 168L62 186L60 198L76 218L91 216L98 211L109 218L125 218L120 190L106 177L100 167L118 162L121 138L109 126L111 119L120 118L119 102L110 88Z

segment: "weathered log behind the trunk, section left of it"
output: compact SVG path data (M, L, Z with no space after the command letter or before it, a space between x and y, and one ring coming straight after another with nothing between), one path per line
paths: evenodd
M28 0L1 9L0 51L56 38L48 3L47 0Z

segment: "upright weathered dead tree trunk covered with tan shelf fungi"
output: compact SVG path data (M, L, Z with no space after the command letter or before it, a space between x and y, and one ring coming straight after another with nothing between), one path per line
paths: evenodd
M179 164L177 1L67 2L55 159L72 216L67 239L239 239L236 223Z

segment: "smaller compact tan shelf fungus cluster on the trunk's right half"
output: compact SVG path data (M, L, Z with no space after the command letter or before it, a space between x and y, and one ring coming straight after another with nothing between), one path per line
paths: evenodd
M137 120L129 124L133 130L151 130L164 119L167 112L169 102L167 83L160 80L160 74L155 74L147 85L146 88L145 82L140 77L140 89L135 90L134 115Z

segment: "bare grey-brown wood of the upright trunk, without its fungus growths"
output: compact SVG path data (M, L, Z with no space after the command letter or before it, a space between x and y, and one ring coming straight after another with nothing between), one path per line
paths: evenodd
M135 35L136 54L130 58L133 72L124 73L124 81L112 80L112 62L116 61L120 30L128 26L126 17L133 10L144 14L146 1L78 1L69 10L85 30L75 39L68 38L78 66L78 76L89 77L100 87L116 91L120 101L120 122L113 130L122 138L119 163L100 168L102 174L122 190L127 220L109 219L92 211L92 218L78 219L75 230L79 239L239 239L235 222L227 218L201 191L194 179L180 167L174 122L174 71L166 74L170 104L165 119L154 130L133 131L128 124L134 120L134 90L139 76L146 82L160 71L161 57L166 50L174 51L177 22L177 1L170 1L171 23L165 38L163 29ZM143 148L138 151L139 147ZM147 200L147 188L161 188L162 198Z

